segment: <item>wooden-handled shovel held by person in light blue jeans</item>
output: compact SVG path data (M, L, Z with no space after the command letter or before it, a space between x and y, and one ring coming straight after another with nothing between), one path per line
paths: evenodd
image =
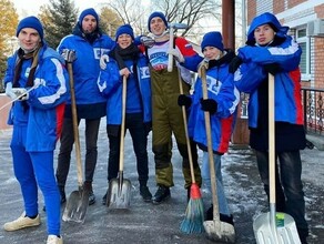
M201 70L202 70L201 79L202 79L203 99L207 99L209 96L207 96L207 84L206 84L206 69L205 67L202 67ZM209 153L211 185L212 185L213 220L204 221L203 225L204 225L209 240L215 241L215 242L235 243L234 226L226 222L221 222L220 220L217 183L216 183L216 177L215 177L211 120L210 120L209 112L204 112L204 119L205 119L207 153Z

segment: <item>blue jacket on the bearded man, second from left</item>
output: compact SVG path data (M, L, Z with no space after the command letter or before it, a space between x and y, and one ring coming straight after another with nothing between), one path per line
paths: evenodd
M100 33L91 44L83 38L79 26L74 28L73 34L61 40L58 47L60 53L63 49L70 49L75 50L77 54L77 60L73 62L77 105L107 102L97 85L100 72L99 61L101 55L108 53L113 47L114 41L107 34ZM68 104L71 104L71 98L68 99Z

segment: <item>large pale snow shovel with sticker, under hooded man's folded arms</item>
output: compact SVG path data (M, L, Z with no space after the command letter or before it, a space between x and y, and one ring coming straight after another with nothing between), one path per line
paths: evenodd
M275 210L275 126L274 126L274 77L269 74L269 181L270 212L259 215L253 222L257 244L300 244L294 218Z

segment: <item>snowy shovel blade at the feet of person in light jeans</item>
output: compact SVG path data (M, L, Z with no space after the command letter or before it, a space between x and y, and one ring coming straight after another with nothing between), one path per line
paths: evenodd
M204 221L206 237L214 242L235 243L234 226L219 221Z

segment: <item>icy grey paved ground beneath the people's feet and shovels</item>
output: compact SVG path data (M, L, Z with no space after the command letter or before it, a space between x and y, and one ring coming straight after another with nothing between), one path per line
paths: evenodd
M82 124L81 124L82 125ZM81 152L83 157L84 140L81 135ZM0 131L0 199L1 223L18 217L22 209L22 200L18 182L12 172L9 141L11 131ZM151 142L150 142L151 143ZM149 144L150 144L149 143ZM72 154L72 166L68 179L67 192L77 190L77 173L74 166L74 153ZM154 163L151 148L150 155L150 181L152 193L155 192ZM144 203L139 195L139 183L135 172L135 159L132 152L132 143L126 135L125 140L125 172L124 177L132 182L131 207L126 211L110 210L101 204L101 197L107 190L107 156L108 140L104 123L99 134L99 160L94 176L94 193L98 202L88 207L84 224L62 222L62 235L64 244L210 244L204 234L186 235L180 232L179 224L184 217L186 207L186 192L183 190L183 177L181 173L181 159L176 149L173 150L174 182L172 197L161 205ZM311 227L310 244L321 244L324 240L323 209L324 209L324 152L304 150L302 152L304 163L303 181L306 194L306 212ZM224 156L224 183L230 207L234 215L237 244L254 244L252 231L253 218L260 213L267 212L267 203L261 186L254 155L250 150L231 148ZM209 206L210 196L203 191L204 204ZM39 244L45 242L47 226L45 213L40 193L40 213L42 224L39 227L6 232L0 230L0 243ZM62 206L63 211L63 206Z

